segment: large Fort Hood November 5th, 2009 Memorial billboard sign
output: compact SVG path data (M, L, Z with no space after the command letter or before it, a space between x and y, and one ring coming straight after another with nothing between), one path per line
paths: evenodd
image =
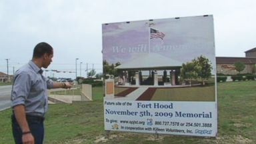
M217 135L212 15L102 27L105 130Z

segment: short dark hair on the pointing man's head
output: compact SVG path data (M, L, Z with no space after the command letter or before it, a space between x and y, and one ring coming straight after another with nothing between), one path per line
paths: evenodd
M33 58L42 57L45 53L49 55L53 54L53 47L51 47L51 45L45 42L38 43L37 45L35 45L33 51Z

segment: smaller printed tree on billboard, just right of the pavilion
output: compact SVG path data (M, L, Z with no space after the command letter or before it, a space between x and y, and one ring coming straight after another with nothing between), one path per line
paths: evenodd
M183 79L189 80L189 84L191 86L192 79L197 79L197 69L195 67L195 63L187 62L183 63L181 67L181 77Z

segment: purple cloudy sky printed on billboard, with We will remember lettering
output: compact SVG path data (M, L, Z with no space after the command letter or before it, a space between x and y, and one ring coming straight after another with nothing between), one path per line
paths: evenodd
M163 40L149 39L149 25L165 33ZM158 53L182 63L204 55L215 67L213 17L103 24L103 60L123 63L145 53Z

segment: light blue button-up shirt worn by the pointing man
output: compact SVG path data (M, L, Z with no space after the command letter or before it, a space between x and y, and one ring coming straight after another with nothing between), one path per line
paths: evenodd
M42 73L42 69L33 61L29 61L15 73L11 107L25 105L27 115L45 116L48 109L47 89L53 88L53 81Z

